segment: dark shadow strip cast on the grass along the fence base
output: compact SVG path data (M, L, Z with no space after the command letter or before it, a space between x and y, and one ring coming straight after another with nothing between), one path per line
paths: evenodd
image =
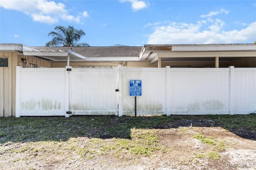
M0 120L0 143L67 141L69 138L126 138L132 128L222 127L246 139L256 140L256 114L172 115L146 117L71 116L8 117Z

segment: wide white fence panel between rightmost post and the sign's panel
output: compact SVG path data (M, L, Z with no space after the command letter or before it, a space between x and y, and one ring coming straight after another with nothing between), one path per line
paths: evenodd
M170 114L228 114L228 68L170 68Z

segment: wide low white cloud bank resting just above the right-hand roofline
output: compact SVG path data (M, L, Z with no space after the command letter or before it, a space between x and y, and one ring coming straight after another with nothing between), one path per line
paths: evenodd
M255 41L256 22L242 30L221 30L210 26L211 30L202 30L200 24L175 23L169 26L158 26L148 36L148 44L197 44L197 43L243 43Z

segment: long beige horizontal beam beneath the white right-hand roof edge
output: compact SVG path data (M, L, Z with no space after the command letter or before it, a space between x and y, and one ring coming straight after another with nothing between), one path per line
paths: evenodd
M256 57L255 51L172 51L158 52L159 57Z

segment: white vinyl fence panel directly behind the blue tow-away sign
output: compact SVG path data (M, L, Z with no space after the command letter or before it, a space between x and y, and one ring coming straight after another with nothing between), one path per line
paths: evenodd
M142 96L136 97L137 115L166 114L165 68L122 68L122 115L135 114L135 97L129 96L129 80L142 81Z

